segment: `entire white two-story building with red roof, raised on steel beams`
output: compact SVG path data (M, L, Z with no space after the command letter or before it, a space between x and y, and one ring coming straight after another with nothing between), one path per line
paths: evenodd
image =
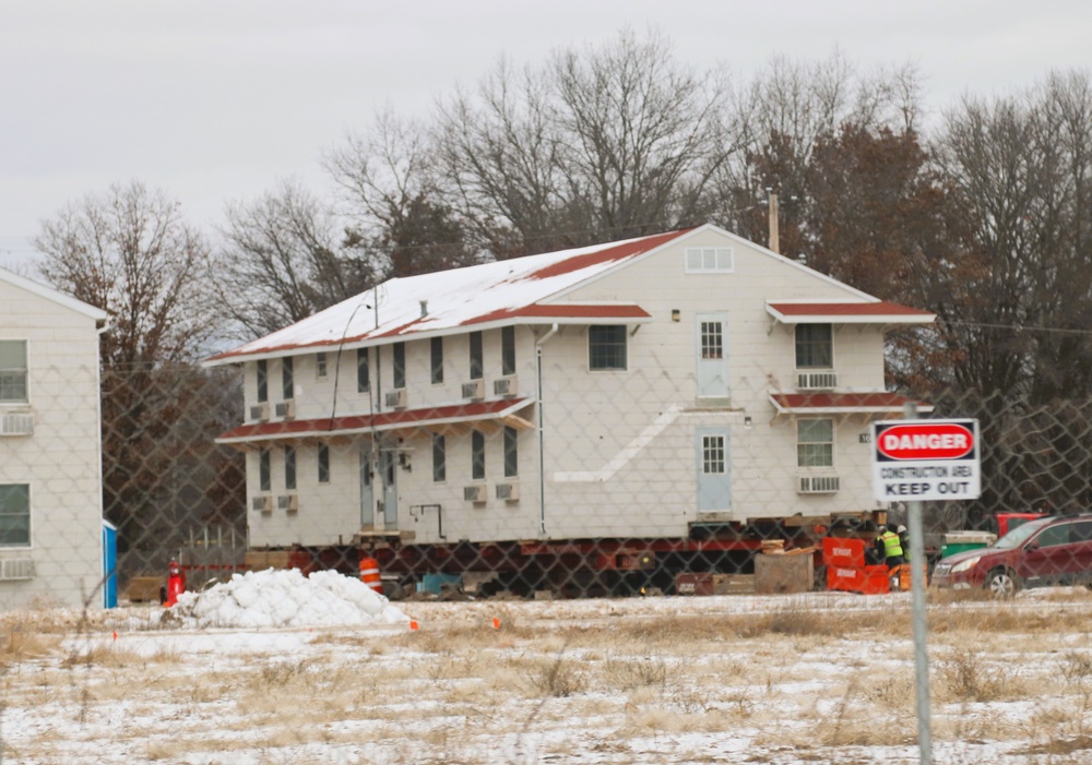
M388 282L241 364L252 546L674 538L877 506L885 331L715 226Z

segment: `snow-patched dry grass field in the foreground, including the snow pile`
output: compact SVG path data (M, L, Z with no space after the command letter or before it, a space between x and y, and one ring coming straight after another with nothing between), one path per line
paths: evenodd
M1092 762L1092 594L936 596L937 763ZM237 576L0 617L8 763L914 763L907 595L389 603ZM416 629L413 629L416 627Z

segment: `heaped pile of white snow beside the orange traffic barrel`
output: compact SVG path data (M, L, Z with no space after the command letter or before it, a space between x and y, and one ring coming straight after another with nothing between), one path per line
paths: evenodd
M357 626L410 618L363 582L336 571L248 571L203 593L182 593L167 619L194 626ZM166 614L165 614L166 615Z

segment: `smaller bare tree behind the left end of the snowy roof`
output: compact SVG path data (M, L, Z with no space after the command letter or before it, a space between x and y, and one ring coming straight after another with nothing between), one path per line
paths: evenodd
M337 240L336 225L298 183L227 205L214 280L245 337L268 334L368 289L371 263Z

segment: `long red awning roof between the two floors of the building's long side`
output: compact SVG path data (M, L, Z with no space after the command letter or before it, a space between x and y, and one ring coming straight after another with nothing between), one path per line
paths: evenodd
M320 417L316 419L278 420L275 422L250 422L233 428L216 439L216 442L240 443L245 441L299 439L330 435L333 433L364 432L368 430L387 431L442 422L483 420L510 415L530 403L530 398L500 398L489 402L429 406L419 409L395 409L393 411L381 411L377 415L348 415L345 417Z

